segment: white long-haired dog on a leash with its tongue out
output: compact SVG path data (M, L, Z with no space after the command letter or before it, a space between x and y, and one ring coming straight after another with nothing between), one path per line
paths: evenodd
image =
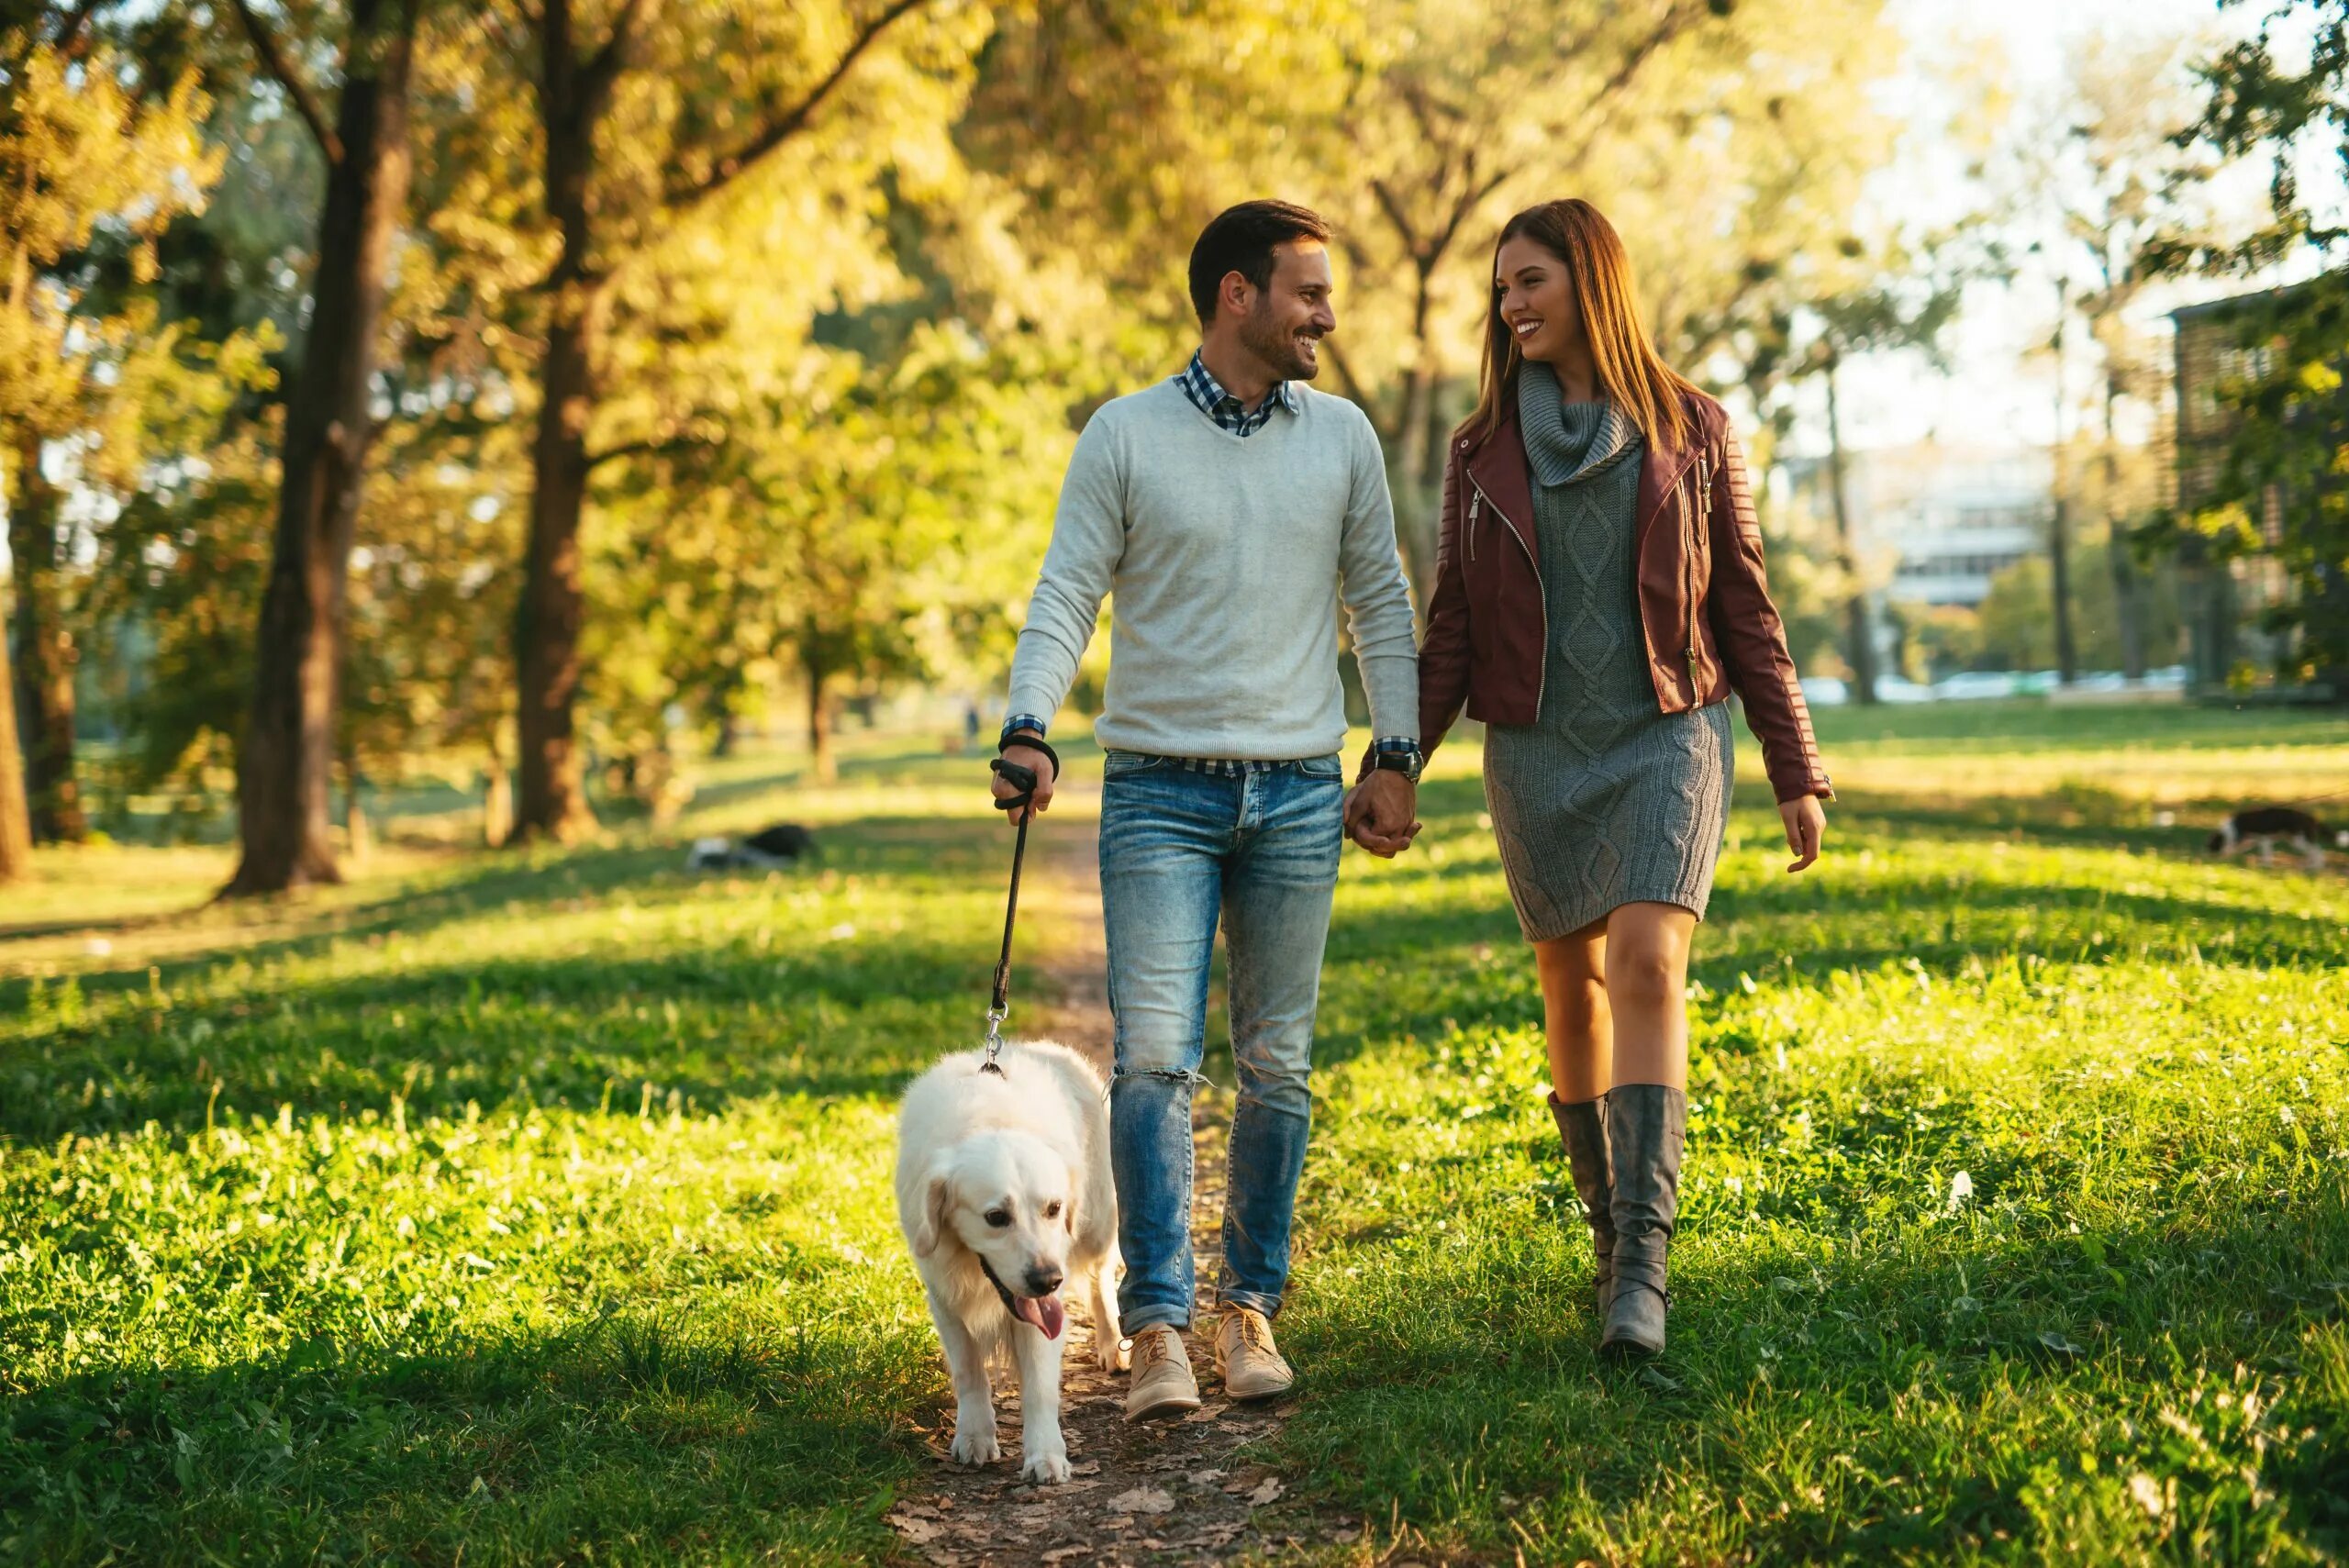
M1062 1284L1083 1284L1106 1371L1118 1347L1118 1190L1102 1077L1062 1045L958 1052L897 1113L897 1223L954 1378L954 1458L1003 1458L989 1359L1019 1371L1019 1474L1066 1481Z

